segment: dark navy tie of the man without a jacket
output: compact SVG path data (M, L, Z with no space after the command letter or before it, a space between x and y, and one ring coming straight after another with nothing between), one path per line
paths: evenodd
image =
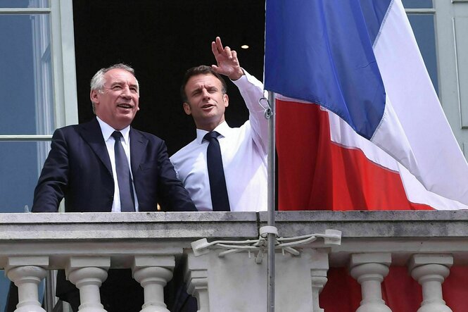
M220 142L217 142L216 131L208 132L203 139L210 142L206 150L208 177L210 178L211 202L213 211L231 211L227 196L226 179L222 168Z

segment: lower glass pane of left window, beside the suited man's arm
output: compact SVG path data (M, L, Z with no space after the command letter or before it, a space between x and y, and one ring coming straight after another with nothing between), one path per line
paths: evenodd
M0 142L0 213L32 208L34 187L51 142Z

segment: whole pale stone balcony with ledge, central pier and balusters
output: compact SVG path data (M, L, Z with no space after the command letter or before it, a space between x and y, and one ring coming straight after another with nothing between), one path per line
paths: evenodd
M18 285L17 311L44 311L37 285L59 268L81 285L80 311L105 311L97 294L106 271L132 268L145 294L141 311L161 312L168 311L163 287L175 259L186 257L186 281L198 311L266 311L266 251L232 252L199 241L255 240L266 220L266 213L246 212L5 213L0 268ZM405 266L422 285L420 311L451 311L441 285L450 268L468 263L468 211L281 211L276 226L279 237L318 234L291 247L298 255L277 250L276 311L324 311L319 293L329 268L346 268L359 282L360 312L391 311L378 291L391 266ZM327 244L320 237L327 230L341 231L341 244ZM202 243L194 252L196 241Z

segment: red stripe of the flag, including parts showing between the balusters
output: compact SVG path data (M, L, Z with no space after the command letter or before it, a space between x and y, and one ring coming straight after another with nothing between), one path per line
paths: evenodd
M359 149L331 142L328 113L314 104L277 100L279 210L431 209L407 200L400 175L369 161ZM330 268L320 294L327 312L354 312L362 298L348 268ZM453 311L465 311L468 266L451 268L443 298ZM422 287L405 266L391 266L382 298L392 311L416 311Z

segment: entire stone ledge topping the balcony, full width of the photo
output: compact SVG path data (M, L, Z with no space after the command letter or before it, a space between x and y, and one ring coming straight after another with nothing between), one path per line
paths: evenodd
M468 211L277 211L279 236L340 230L347 238L465 238ZM260 222L259 222L260 220ZM28 239L258 237L267 212L2 213L0 242Z

